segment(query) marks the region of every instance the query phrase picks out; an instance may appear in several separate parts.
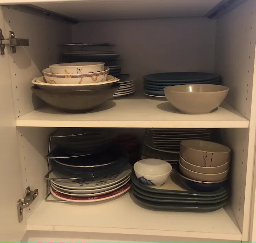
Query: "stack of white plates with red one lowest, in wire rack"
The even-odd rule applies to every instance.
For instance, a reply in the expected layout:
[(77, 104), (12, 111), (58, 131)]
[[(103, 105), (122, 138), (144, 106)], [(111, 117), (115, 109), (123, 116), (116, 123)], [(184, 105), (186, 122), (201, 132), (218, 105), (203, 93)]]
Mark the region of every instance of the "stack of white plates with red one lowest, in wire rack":
[(54, 180), (59, 178), (56, 172), (51, 172), (49, 177), (52, 178), (50, 190), (55, 197), (69, 202), (96, 202), (129, 190), (131, 166), (127, 163), (123, 169), (104, 178)]

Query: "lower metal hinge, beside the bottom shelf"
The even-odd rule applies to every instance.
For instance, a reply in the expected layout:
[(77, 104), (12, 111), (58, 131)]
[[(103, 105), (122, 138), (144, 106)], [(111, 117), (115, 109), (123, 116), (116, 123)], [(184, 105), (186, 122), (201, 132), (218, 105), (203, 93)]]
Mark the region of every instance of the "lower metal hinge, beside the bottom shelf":
[(35, 198), (38, 195), (38, 189), (31, 191), (30, 187), (28, 186), (25, 192), (26, 196), (24, 197), (24, 202), (22, 202), (21, 199), (19, 199), (19, 201), (17, 202), (19, 222), (23, 220), (23, 208), (29, 207), (34, 202)]

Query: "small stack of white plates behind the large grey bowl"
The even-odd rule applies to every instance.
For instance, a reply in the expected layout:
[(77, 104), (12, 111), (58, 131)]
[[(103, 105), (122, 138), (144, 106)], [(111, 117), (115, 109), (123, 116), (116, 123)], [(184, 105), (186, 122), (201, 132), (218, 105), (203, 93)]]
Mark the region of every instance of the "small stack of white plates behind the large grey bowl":
[(120, 79), (120, 81), (118, 81), (120, 87), (117, 90), (117, 92), (113, 95), (113, 98), (117, 98), (124, 95), (130, 95), (135, 92), (135, 80), (130, 79), (129, 75), (118, 76), (118, 78)]

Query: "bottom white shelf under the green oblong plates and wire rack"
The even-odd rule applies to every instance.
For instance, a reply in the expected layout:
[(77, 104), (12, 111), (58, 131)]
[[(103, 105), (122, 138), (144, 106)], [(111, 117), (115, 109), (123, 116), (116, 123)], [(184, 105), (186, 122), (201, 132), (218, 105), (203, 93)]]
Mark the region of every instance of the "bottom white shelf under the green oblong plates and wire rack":
[(154, 211), (135, 204), (129, 192), (96, 204), (42, 202), (27, 230), (242, 239), (228, 206), (208, 213)]

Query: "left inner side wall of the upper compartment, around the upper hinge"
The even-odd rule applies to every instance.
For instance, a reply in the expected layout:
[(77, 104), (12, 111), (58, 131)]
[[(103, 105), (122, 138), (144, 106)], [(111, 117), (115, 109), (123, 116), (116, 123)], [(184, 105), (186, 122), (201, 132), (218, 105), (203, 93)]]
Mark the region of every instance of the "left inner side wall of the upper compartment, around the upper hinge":
[(30, 40), (30, 46), (17, 47), (16, 53), (5, 48), (9, 54), (15, 118), (18, 118), (41, 105), (32, 96), (31, 81), (42, 76), (42, 70), (50, 64), (59, 62), (61, 43), (69, 41), (71, 26), (8, 8), (3, 8), (3, 15), (5, 37), (13, 31), (17, 38)]

